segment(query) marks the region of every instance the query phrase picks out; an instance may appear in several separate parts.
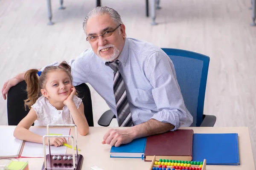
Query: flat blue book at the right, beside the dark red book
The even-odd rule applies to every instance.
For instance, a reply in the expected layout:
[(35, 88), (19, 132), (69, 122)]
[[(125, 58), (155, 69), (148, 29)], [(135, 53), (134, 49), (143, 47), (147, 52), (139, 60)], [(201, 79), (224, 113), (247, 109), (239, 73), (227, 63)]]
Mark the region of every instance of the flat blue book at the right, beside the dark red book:
[(195, 133), (193, 161), (209, 165), (239, 165), (237, 133)]

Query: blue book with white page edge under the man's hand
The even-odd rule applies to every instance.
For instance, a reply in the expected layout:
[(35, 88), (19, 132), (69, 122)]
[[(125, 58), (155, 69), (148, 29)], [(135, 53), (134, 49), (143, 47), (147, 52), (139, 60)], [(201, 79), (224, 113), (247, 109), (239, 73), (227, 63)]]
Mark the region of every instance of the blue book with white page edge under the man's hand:
[(114, 158), (141, 158), (144, 157), (147, 138), (134, 139), (131, 143), (121, 144), (119, 147), (112, 146), (110, 157)]

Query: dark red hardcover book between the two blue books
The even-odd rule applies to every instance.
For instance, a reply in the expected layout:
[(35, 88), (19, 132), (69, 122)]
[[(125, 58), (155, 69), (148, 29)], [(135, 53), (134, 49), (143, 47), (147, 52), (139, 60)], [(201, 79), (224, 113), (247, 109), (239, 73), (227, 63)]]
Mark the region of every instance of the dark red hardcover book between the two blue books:
[(156, 160), (192, 161), (193, 135), (192, 129), (181, 129), (148, 136), (144, 152), (145, 161), (152, 161), (154, 155)]

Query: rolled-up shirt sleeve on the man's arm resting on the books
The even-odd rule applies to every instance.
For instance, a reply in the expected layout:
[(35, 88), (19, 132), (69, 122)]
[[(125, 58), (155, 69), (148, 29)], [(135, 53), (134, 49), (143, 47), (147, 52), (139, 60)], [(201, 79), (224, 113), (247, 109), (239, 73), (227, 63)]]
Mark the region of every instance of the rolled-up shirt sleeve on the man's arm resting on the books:
[(148, 57), (145, 67), (145, 74), (153, 87), (152, 95), (159, 111), (151, 119), (170, 123), (175, 126), (173, 130), (183, 125), (191, 125), (193, 118), (184, 104), (175, 68), (169, 57), (158, 51)]

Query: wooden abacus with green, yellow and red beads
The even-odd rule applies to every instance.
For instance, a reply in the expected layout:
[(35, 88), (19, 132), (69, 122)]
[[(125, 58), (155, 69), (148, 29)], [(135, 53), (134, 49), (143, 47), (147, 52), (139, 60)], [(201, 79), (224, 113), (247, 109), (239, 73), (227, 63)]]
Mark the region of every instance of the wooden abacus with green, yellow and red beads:
[(149, 170), (206, 170), (206, 159), (203, 162), (177, 161), (177, 160), (156, 160), (153, 157)]

